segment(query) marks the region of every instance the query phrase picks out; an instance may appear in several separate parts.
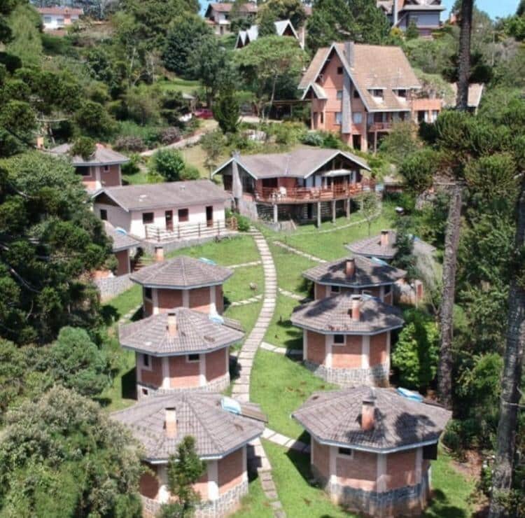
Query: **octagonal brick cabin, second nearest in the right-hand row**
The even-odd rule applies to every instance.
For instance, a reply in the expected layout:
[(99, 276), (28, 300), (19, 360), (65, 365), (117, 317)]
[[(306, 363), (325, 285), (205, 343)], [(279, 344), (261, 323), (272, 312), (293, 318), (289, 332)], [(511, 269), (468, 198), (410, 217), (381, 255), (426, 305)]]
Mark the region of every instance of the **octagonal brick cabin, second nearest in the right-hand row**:
[(400, 311), (367, 295), (344, 293), (302, 304), (293, 325), (303, 330), (304, 365), (342, 386), (388, 384), (391, 331)]

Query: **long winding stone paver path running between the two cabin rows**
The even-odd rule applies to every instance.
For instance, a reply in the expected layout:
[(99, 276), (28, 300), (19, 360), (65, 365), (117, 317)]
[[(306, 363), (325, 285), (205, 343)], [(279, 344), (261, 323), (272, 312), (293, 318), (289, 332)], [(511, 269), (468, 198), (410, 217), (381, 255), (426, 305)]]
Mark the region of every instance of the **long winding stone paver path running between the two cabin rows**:
[[(232, 397), (241, 402), (250, 400), (250, 376), (253, 358), (255, 358), (255, 353), (262, 343), (262, 338), (265, 336), (268, 325), (272, 320), (277, 295), (277, 274), (268, 244), (264, 236), (257, 230), (252, 229), (249, 233), (253, 235), (262, 260), (262, 269), (265, 274), (265, 293), (259, 318), (237, 356), (239, 377), (233, 382)], [(257, 470), (262, 491), (264, 491), (266, 498), (269, 500), (274, 517), (285, 518), (286, 512), (284, 512), (283, 505), (279, 501), (279, 495), (272, 477), (272, 465), (269, 463), (259, 439), (252, 441), (248, 449), (248, 468), (252, 471)]]

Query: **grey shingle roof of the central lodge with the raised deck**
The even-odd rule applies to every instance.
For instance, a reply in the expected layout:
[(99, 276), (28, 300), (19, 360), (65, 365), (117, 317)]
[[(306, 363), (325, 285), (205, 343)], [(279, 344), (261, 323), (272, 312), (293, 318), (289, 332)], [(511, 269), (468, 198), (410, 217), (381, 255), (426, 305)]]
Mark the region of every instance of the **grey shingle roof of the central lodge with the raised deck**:
[(347, 151), (334, 149), (299, 148), (290, 153), (268, 153), (265, 155), (239, 155), (230, 158), (218, 167), (214, 174), (236, 160), (237, 163), (255, 179), (290, 176), (290, 178), (307, 178), (326, 162), (337, 156), (342, 156), (353, 162), (360, 169), (370, 168), (367, 162)]

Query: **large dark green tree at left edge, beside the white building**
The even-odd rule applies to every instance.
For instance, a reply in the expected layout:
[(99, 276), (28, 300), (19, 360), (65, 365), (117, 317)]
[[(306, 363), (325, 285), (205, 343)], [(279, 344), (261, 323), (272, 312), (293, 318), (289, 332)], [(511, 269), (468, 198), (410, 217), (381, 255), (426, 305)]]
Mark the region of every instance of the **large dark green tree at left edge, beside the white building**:
[(85, 274), (111, 253), (73, 167), (43, 153), (0, 169), (0, 335), (49, 342), (64, 325), (94, 325), (99, 300)]

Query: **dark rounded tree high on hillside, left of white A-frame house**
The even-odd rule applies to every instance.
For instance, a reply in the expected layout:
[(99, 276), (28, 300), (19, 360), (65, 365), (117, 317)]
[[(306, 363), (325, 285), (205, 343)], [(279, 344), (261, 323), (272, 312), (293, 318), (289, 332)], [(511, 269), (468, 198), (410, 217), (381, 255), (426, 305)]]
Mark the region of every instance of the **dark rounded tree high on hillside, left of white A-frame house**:
[(194, 76), (190, 69), (196, 65), (190, 62), (192, 49), (195, 48), (195, 42), (199, 42), (204, 36), (211, 35), (211, 29), (202, 18), (177, 16), (167, 34), (162, 54), (166, 68), (179, 76), (193, 79)]

